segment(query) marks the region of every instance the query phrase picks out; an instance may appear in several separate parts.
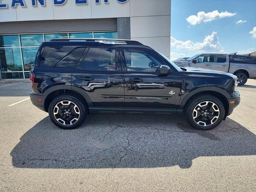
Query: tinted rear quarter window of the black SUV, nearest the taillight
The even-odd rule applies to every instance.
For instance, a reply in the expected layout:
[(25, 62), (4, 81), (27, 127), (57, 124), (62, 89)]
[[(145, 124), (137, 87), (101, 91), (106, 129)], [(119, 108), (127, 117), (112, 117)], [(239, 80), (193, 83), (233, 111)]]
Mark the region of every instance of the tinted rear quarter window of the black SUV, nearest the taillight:
[(85, 48), (44, 48), (40, 66), (74, 68), (84, 50)]

